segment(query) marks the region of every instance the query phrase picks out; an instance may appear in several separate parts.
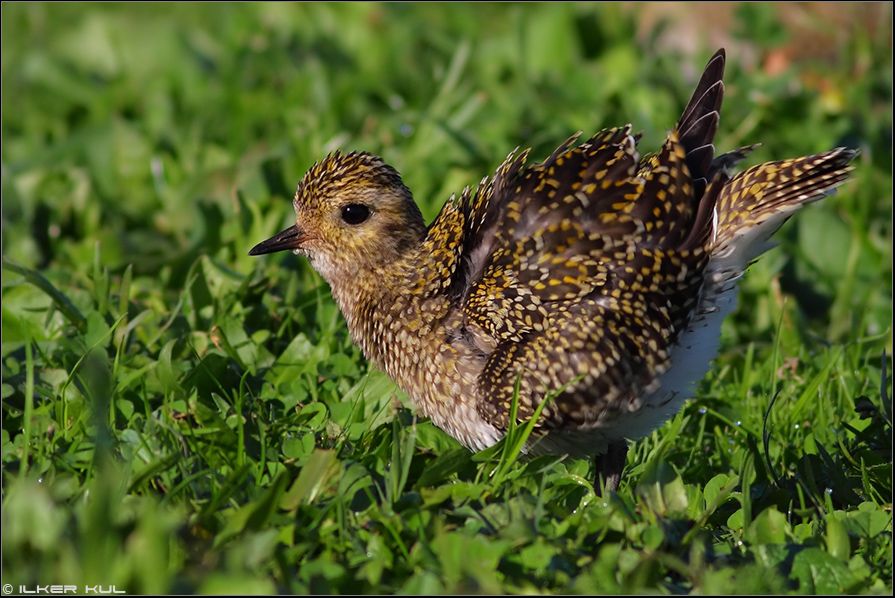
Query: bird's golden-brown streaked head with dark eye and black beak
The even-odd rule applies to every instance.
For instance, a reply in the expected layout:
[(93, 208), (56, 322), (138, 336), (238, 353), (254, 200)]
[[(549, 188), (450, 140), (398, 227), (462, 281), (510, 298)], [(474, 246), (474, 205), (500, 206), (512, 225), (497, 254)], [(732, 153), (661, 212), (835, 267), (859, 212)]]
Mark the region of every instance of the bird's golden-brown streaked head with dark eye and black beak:
[(401, 176), (368, 153), (335, 152), (314, 164), (292, 203), (295, 225), (249, 255), (285, 250), (306, 255), (331, 285), (387, 266), (426, 234)]

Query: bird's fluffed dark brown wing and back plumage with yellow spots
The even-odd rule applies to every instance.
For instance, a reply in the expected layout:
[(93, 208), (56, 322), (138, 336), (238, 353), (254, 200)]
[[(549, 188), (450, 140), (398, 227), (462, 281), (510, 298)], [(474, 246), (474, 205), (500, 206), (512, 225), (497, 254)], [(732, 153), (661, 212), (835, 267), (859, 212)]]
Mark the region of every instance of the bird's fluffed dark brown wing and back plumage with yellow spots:
[(518, 378), (521, 417), (571, 384), (544, 425), (593, 422), (664, 371), (707, 259), (681, 246), (695, 212), (685, 159), (672, 133), (639, 176), (629, 127), (609, 129), (491, 197), (499, 225), (460, 305), (494, 346), (480, 381), (487, 417), (506, 417)]

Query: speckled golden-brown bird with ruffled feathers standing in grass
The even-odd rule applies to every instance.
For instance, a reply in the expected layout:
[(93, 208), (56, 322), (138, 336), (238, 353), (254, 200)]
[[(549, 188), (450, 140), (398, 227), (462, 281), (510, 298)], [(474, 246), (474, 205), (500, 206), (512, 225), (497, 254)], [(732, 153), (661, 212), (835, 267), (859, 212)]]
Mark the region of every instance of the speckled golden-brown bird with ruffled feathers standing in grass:
[(756, 145), (715, 155), (725, 61), (657, 151), (630, 124), (542, 162), (517, 148), (429, 225), (394, 167), (332, 152), (295, 224), (249, 253), (305, 256), (366, 358), (468, 449), (537, 416), (526, 453), (593, 459), (595, 491), (616, 491), (629, 443), (709, 371), (746, 268), (854, 168), (837, 147), (735, 172)]

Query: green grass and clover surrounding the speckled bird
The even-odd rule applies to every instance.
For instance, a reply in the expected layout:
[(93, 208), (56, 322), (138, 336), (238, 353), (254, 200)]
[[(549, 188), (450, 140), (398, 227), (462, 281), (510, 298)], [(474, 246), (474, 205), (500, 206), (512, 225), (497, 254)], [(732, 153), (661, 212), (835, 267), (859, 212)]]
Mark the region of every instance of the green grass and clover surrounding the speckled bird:
[(655, 147), (714, 47), (611, 4), (4, 3), (2, 582), (890, 594), (891, 32), (771, 72), (775, 10), (734, 11), (717, 145), (857, 146), (854, 182), (780, 232), (601, 499), (586, 461), (415, 419), (308, 264), (247, 251), (336, 147), (427, 218), (517, 145)]

